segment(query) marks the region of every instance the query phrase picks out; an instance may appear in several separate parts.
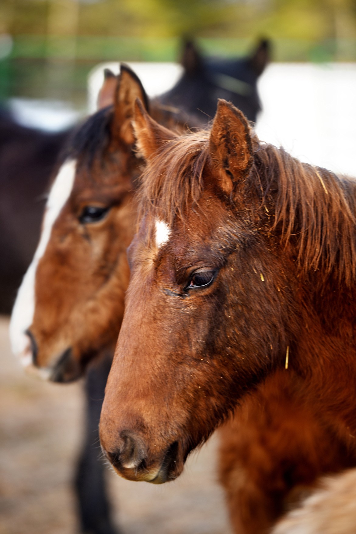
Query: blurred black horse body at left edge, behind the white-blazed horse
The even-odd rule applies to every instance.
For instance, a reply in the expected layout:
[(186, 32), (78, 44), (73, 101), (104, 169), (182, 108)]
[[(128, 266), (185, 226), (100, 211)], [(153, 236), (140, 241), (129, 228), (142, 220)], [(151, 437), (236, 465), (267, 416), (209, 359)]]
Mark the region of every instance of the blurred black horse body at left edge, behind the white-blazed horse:
[(45, 191), (68, 132), (47, 133), (0, 112), (0, 313), (10, 313), (39, 238)]

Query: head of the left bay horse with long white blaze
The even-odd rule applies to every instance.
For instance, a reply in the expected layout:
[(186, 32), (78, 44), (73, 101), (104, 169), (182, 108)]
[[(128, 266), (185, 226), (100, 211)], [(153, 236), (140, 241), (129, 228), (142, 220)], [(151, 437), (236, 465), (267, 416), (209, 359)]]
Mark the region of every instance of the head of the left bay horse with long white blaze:
[[(53, 180), (41, 239), (14, 305), (14, 352), (53, 381), (78, 378), (99, 351), (114, 353), (143, 163), (133, 150), (136, 98), (149, 108), (132, 70), (122, 66), (118, 78), (105, 73), (100, 109), (72, 136)], [(162, 119), (160, 109), (151, 112)]]

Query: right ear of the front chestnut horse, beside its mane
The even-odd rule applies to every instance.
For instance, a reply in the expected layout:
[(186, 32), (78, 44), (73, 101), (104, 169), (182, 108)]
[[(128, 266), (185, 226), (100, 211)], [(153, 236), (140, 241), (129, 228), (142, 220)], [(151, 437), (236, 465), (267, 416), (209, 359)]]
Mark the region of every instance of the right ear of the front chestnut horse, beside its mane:
[(245, 115), (219, 99), (209, 138), (209, 152), (221, 189), (230, 194), (234, 183), (248, 175), (253, 151)]

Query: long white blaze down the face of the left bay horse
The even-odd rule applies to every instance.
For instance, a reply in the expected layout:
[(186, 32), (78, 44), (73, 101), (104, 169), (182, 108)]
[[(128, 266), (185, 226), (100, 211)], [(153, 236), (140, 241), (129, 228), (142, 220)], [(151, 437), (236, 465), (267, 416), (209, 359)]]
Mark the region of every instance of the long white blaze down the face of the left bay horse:
[(43, 218), (41, 238), (34, 258), (23, 277), (10, 321), (10, 341), (13, 353), (20, 357), (24, 367), (32, 362), (30, 341), (25, 334), (31, 326), (35, 313), (35, 279), (39, 260), (44, 255), (51, 237), (52, 227), (67, 202), (76, 173), (76, 161), (67, 160), (56, 176), (48, 197)]

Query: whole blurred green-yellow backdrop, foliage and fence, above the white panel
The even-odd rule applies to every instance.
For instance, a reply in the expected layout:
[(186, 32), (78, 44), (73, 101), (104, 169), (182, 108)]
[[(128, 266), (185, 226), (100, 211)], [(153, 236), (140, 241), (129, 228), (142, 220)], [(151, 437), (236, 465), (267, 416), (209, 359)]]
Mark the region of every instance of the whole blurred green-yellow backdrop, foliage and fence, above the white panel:
[(277, 61), (356, 61), (356, 0), (0, 0), (1, 34), (0, 96), (63, 97), (69, 76), (72, 98), (97, 62), (177, 60), (183, 35), (221, 56), (264, 36)]

